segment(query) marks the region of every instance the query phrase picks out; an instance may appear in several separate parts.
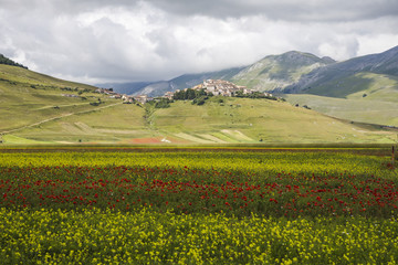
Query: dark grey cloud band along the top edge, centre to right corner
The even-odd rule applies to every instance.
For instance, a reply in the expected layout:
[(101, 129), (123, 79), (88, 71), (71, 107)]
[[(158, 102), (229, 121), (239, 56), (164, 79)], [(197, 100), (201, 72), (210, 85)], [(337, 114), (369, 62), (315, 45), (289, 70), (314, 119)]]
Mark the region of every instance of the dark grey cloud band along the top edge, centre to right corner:
[(180, 15), (213, 18), (263, 14), (286, 21), (352, 21), (397, 15), (396, 0), (151, 0), (159, 8)]

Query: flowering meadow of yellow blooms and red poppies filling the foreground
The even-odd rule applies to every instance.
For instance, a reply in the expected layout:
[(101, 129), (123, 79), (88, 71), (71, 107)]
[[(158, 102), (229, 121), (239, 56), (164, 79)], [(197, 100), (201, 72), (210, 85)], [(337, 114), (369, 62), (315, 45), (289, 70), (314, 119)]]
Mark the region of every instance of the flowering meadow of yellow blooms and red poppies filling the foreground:
[(387, 148), (3, 148), (4, 264), (395, 264)]

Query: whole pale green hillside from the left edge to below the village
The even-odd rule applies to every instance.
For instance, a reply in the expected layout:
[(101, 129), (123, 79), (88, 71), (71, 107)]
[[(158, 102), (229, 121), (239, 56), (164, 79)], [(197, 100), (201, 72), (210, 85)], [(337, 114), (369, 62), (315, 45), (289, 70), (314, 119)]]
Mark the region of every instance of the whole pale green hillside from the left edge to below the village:
[(379, 127), (350, 124), (269, 99), (213, 97), (203, 106), (187, 100), (157, 109), (122, 104), (93, 93), (94, 88), (0, 65), (1, 141), (303, 144), (390, 142), (396, 137)]

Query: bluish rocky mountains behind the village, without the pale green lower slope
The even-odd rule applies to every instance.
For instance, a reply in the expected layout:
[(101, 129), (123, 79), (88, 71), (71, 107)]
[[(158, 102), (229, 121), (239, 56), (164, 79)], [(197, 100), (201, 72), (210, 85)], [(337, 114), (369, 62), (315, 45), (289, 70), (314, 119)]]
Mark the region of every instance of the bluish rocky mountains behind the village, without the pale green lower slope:
[[(374, 74), (369, 77), (368, 74)], [(398, 76), (398, 46), (384, 53), (354, 57), (336, 62), (331, 57), (318, 57), (297, 51), (269, 55), (243, 67), (217, 72), (184, 74), (170, 81), (136, 84), (106, 84), (126, 94), (161, 96), (167, 91), (184, 89), (200, 84), (203, 80), (227, 80), (256, 91), (284, 94), (314, 94), (345, 97), (353, 91), (353, 83), (373, 83), (377, 75), (387, 76), (395, 83)], [(391, 86), (395, 86), (392, 84)], [(121, 87), (121, 88), (119, 88)]]

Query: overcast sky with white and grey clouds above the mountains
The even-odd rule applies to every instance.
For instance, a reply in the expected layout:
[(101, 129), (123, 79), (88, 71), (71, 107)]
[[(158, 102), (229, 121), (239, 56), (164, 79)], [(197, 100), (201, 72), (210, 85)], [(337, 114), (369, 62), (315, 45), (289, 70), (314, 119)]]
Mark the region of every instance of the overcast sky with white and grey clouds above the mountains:
[(0, 0), (0, 53), (85, 83), (170, 80), (291, 50), (398, 45), (397, 0)]

